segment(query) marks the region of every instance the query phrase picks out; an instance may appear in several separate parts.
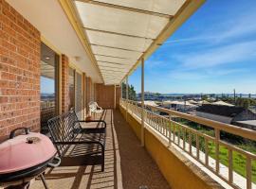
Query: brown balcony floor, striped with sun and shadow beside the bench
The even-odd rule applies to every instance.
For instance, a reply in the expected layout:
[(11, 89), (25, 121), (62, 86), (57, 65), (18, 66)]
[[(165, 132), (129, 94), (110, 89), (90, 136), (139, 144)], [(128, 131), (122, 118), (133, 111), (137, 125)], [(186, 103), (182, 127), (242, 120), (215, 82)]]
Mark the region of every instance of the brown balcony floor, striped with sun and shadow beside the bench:
[[(101, 116), (107, 123), (105, 171), (101, 165), (59, 166), (46, 170), (46, 182), (52, 189), (149, 189), (170, 188), (157, 165), (140, 143), (119, 111), (105, 110)], [(41, 180), (32, 189), (44, 188)]]

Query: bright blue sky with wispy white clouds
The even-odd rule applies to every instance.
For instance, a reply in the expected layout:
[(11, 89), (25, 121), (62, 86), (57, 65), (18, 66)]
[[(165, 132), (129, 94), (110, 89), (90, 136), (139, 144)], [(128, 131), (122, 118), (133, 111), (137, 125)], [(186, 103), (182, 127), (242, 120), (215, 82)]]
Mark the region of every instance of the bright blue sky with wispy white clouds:
[(145, 91), (256, 94), (255, 73), (256, 1), (208, 0), (145, 61)]

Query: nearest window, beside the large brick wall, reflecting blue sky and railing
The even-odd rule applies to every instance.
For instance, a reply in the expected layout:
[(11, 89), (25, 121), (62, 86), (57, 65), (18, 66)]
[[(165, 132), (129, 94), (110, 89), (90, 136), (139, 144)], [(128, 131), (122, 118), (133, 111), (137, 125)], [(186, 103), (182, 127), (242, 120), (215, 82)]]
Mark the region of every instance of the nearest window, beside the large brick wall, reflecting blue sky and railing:
[(41, 43), (41, 131), (47, 132), (47, 121), (58, 112), (59, 56)]

